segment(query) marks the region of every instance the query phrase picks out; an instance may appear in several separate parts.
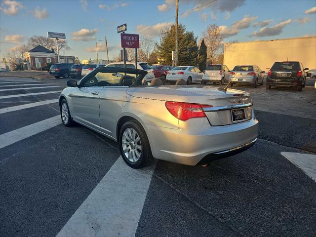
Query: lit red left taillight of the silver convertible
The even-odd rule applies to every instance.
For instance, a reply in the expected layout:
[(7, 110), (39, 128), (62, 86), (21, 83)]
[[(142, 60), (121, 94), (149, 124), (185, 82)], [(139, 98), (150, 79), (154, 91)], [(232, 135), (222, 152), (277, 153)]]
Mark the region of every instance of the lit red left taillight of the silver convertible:
[(203, 108), (213, 107), (211, 105), (200, 105), (184, 102), (167, 101), (165, 103), (167, 110), (176, 118), (186, 121), (190, 118), (206, 117)]

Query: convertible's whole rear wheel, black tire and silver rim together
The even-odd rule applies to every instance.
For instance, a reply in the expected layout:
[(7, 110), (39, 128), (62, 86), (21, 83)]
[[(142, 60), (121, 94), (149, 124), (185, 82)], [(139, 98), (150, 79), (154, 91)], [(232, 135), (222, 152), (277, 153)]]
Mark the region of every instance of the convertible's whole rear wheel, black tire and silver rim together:
[(124, 162), (134, 169), (148, 166), (154, 160), (146, 132), (136, 120), (127, 121), (121, 126), (118, 146)]

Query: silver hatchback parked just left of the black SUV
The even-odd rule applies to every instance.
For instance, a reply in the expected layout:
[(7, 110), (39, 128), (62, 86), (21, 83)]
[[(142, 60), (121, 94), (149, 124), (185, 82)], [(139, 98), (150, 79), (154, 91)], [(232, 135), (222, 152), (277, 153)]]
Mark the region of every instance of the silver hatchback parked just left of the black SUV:
[(235, 66), (230, 72), (231, 86), (234, 84), (250, 84), (256, 88), (258, 84), (263, 85), (264, 73), (265, 71), (261, 71), (257, 65)]

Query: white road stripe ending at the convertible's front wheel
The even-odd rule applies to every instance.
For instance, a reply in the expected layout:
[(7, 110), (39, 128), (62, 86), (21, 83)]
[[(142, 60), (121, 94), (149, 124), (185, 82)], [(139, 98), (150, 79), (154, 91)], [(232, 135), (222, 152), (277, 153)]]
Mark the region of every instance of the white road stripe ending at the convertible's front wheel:
[(55, 117), (47, 118), (45, 120), (27, 125), (25, 127), (3, 133), (0, 135), (0, 148), (9, 146), (13, 143), (45, 131), (49, 128), (55, 127), (59, 124), (61, 124), (61, 118), (60, 115), (57, 115)]

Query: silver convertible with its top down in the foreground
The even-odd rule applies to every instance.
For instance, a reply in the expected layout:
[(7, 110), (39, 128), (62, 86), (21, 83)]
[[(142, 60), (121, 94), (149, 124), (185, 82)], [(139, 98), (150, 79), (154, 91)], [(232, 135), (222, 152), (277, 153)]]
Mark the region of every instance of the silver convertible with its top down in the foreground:
[[(209, 86), (142, 85), (146, 71), (97, 68), (59, 97), (62, 122), (80, 123), (118, 142), (124, 161), (144, 167), (153, 158), (197, 165), (231, 156), (257, 139), (250, 95)], [(181, 84), (181, 83), (180, 83)]]

